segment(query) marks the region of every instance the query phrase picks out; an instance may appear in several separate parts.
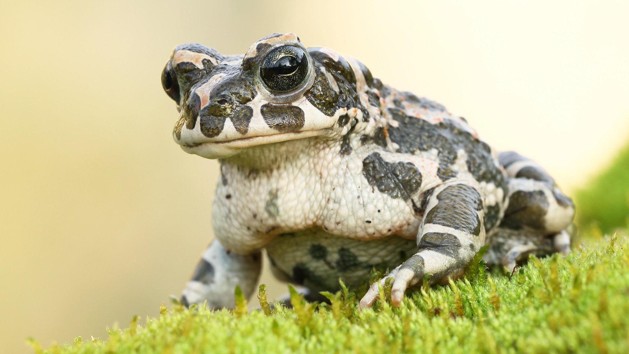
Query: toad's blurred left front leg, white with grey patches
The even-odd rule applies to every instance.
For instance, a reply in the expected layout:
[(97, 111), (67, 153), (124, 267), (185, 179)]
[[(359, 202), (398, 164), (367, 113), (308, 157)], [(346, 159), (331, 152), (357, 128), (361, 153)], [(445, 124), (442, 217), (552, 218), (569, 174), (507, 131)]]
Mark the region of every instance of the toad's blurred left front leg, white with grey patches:
[(214, 239), (201, 256), (192, 279), (181, 297), (182, 304), (203, 304), (207, 300), (211, 309), (236, 305), (234, 289), (240, 286), (247, 299), (253, 294), (260, 276), (260, 251), (252, 254), (235, 254), (223, 248)]

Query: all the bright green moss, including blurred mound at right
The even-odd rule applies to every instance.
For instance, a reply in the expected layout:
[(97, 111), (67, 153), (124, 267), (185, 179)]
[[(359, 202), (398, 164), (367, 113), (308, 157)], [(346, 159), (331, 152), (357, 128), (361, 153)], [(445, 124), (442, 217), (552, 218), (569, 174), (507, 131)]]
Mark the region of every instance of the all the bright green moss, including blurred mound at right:
[(36, 353), (629, 353), (629, 237), (602, 236), (627, 226), (629, 149), (576, 202), (584, 227), (569, 256), (531, 258), (513, 274), (474, 263), (399, 308), (385, 300), (359, 312), (360, 294), (344, 289), (328, 294), (331, 305), (293, 293), (294, 309), (274, 310), (263, 290), (261, 310), (247, 312), (242, 296), (234, 311), (174, 301), (157, 318), (108, 329), (106, 340), (30, 343)]

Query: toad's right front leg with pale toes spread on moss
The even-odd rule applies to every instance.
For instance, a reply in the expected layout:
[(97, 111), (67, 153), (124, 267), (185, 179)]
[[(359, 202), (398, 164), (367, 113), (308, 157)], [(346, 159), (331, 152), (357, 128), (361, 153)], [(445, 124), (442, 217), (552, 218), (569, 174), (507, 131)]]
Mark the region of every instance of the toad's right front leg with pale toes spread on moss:
[(485, 240), (483, 202), (479, 191), (466, 184), (445, 185), (431, 195), (423, 226), (418, 232), (418, 252), (402, 265), (374, 283), (360, 300), (369, 307), (379, 297), (378, 284), (393, 279), (391, 302), (395, 306), (410, 286), (430, 275), (437, 283), (448, 277), (459, 277)]

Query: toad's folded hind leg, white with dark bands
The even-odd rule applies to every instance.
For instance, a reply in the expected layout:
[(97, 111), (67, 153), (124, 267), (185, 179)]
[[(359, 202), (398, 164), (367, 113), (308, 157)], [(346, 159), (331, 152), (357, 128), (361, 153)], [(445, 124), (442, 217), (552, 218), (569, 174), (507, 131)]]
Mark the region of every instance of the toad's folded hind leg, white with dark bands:
[(567, 254), (574, 216), (570, 198), (532, 160), (516, 152), (502, 152), (499, 160), (509, 176), (509, 193), (500, 226), (487, 235), (491, 246), (484, 260), (513, 270), (528, 254)]

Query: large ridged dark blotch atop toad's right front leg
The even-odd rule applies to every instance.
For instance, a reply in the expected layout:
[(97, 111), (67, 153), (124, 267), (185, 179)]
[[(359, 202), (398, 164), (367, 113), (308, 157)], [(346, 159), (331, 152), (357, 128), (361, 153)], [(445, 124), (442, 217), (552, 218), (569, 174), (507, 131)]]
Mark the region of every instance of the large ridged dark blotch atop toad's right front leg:
[(437, 195), (439, 202), (426, 215), (424, 224), (437, 224), (478, 236), (482, 210), (481, 195), (468, 185), (448, 186)]

